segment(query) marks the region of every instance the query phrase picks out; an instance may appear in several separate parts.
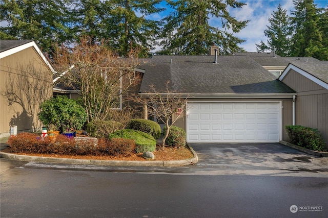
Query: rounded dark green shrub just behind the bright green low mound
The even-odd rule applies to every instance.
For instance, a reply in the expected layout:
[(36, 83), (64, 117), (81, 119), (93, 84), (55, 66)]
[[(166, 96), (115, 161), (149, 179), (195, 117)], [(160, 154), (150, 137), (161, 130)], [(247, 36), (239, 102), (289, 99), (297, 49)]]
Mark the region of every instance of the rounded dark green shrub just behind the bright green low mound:
[(131, 119), (126, 129), (139, 130), (152, 135), (155, 139), (160, 137), (160, 126), (149, 119)]

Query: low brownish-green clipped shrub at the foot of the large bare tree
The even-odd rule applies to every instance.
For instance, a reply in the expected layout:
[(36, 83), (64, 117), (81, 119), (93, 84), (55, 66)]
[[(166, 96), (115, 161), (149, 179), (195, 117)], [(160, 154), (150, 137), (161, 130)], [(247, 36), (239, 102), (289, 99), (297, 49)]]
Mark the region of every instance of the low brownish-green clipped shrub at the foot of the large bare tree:
[(93, 120), (87, 124), (87, 132), (96, 138), (108, 138), (109, 134), (123, 128), (121, 123), (112, 120)]

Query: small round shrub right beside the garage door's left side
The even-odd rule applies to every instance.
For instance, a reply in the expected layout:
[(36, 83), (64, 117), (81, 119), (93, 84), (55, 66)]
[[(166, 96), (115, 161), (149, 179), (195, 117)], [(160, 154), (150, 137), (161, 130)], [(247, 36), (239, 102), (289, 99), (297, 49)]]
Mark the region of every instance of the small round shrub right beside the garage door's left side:
[[(164, 127), (163, 134), (166, 134), (167, 128)], [(186, 146), (186, 132), (177, 126), (171, 126), (170, 132), (165, 140), (165, 143), (168, 146), (172, 147), (185, 147)]]

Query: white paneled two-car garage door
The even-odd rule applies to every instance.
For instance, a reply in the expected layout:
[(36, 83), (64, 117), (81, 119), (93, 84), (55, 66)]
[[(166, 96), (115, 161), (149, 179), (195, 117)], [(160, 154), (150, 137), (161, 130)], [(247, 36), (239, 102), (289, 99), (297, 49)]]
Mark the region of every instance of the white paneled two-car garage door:
[(190, 102), (187, 142), (278, 142), (279, 102)]

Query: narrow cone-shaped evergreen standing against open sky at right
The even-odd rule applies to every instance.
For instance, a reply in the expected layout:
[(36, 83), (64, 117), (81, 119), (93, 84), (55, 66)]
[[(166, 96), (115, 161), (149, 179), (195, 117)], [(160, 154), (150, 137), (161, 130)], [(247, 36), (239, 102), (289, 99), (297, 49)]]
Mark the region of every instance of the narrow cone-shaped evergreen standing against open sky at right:
[(290, 45), (290, 26), (287, 10), (282, 9), (279, 4), (277, 11), (273, 11), (271, 18), (269, 18), (270, 26), (264, 30), (264, 35), (268, 37), (268, 43), (265, 44), (261, 41), (260, 44), (256, 44), (258, 52), (264, 52), (265, 50), (276, 49), (276, 53), (282, 57), (288, 55)]

